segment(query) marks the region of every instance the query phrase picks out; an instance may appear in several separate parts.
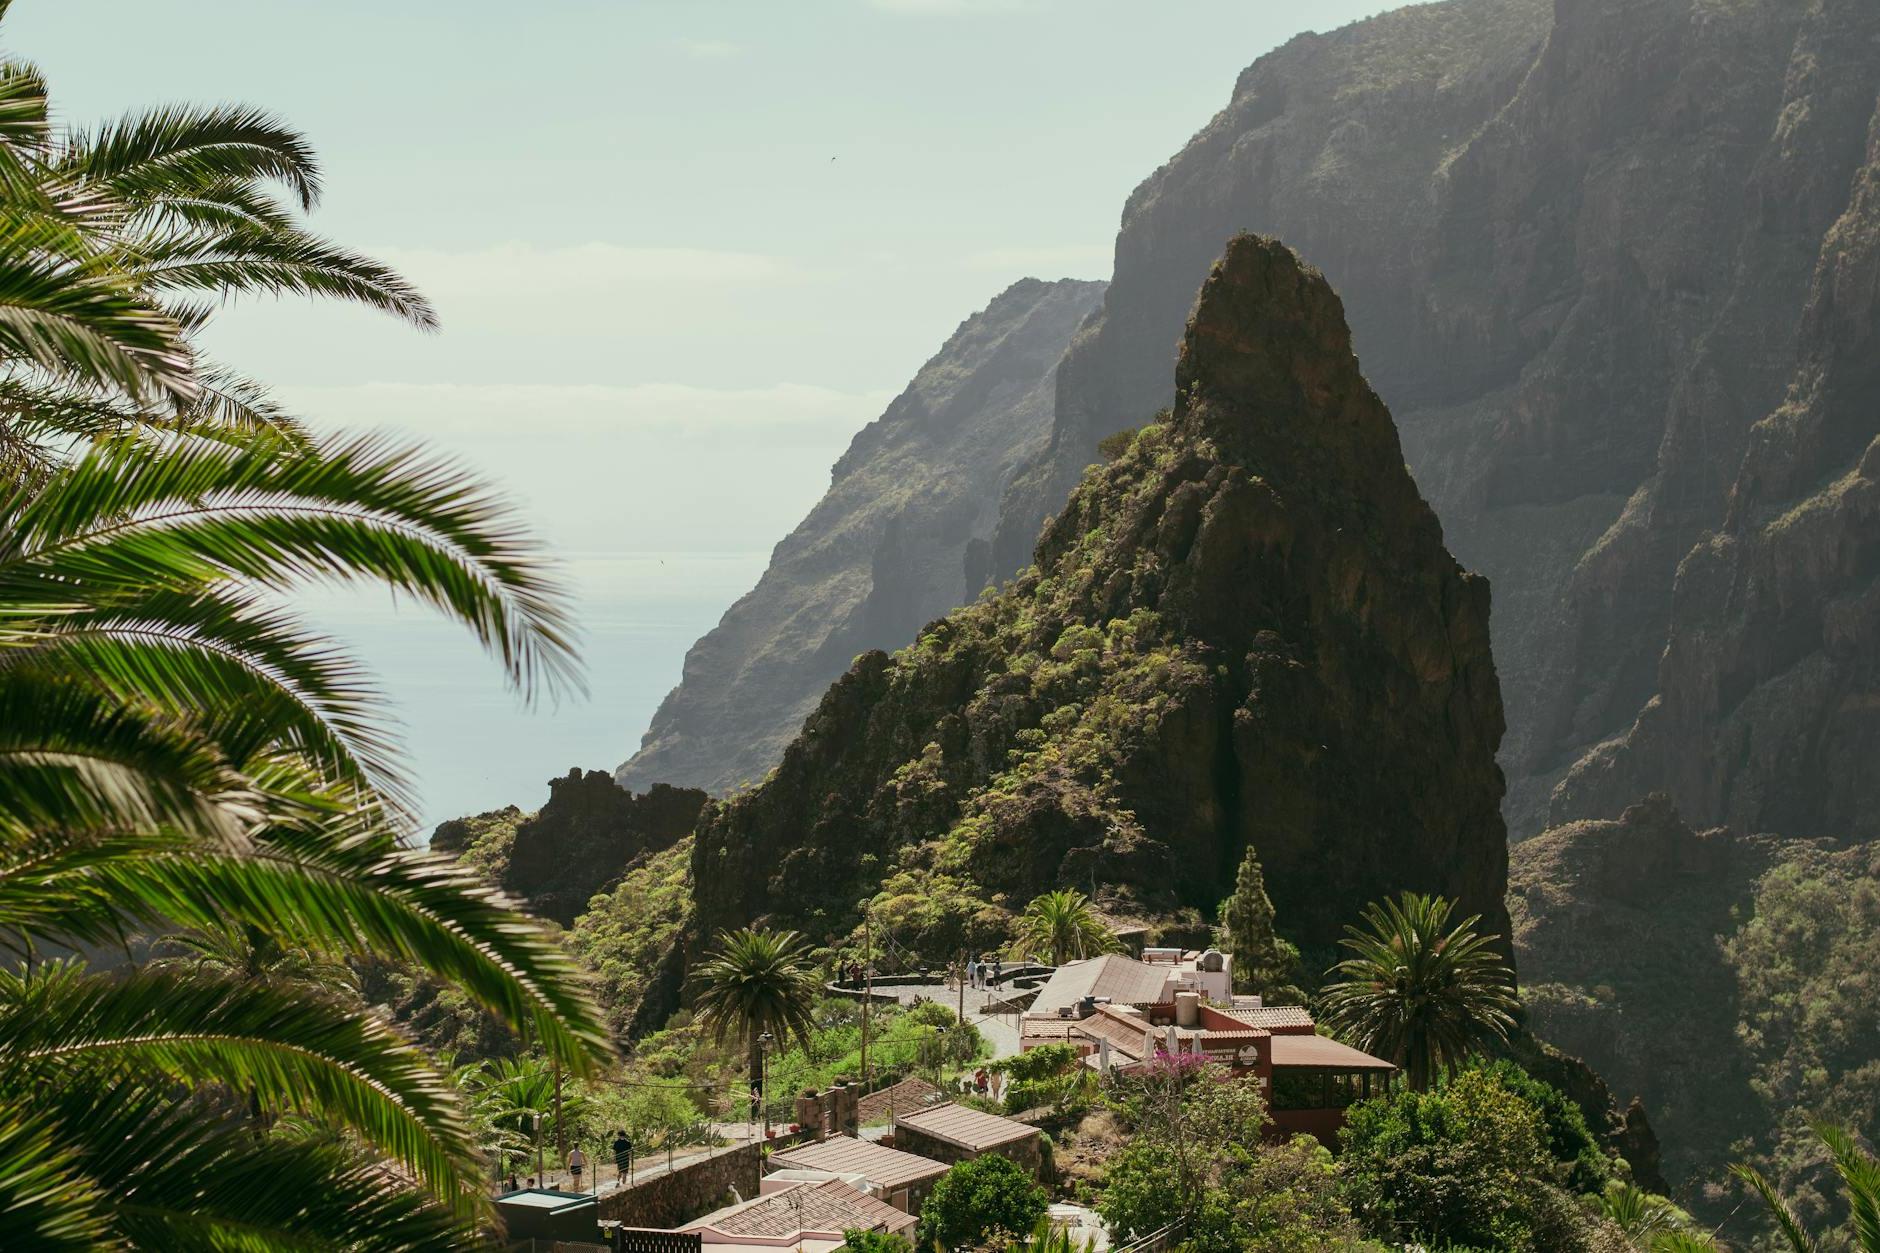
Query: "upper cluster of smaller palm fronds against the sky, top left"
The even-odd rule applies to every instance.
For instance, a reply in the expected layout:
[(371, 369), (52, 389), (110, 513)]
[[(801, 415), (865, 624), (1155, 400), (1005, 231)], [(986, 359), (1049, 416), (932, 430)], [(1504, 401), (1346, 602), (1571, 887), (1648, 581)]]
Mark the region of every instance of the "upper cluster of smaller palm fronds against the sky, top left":
[(175, 105), (60, 128), (41, 75), (0, 56), (0, 476), (43, 472), (70, 436), (143, 427), (303, 438), (190, 344), (229, 297), (320, 295), (436, 325), (408, 282), (308, 233), (276, 190), (310, 211), (320, 169), (265, 113)]

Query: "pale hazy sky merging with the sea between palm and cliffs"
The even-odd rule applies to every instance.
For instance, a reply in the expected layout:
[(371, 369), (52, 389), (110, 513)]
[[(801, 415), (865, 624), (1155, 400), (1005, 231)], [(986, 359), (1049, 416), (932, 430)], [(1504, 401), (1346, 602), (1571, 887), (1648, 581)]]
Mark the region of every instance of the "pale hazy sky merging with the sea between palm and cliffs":
[(425, 337), (241, 305), (211, 348), (310, 416), (500, 474), (570, 557), (592, 698), (523, 715), (412, 615), (321, 606), (399, 698), (432, 818), (639, 741), (874, 418), (1010, 282), (1109, 275), (1130, 188), (1260, 53), (1359, 0), (17, 0), (90, 120), (241, 100), (308, 132), (314, 224)]

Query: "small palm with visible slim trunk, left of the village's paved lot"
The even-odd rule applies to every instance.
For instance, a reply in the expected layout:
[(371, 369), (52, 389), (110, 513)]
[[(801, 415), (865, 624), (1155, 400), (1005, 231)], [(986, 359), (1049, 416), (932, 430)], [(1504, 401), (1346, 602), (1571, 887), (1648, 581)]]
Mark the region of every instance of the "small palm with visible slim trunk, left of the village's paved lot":
[(816, 1025), (816, 973), (795, 931), (741, 928), (720, 931), (699, 967), (697, 1012), (713, 1040), (741, 1040), (750, 1057), (750, 1087), (763, 1086), (763, 1037), (795, 1037), (810, 1048)]

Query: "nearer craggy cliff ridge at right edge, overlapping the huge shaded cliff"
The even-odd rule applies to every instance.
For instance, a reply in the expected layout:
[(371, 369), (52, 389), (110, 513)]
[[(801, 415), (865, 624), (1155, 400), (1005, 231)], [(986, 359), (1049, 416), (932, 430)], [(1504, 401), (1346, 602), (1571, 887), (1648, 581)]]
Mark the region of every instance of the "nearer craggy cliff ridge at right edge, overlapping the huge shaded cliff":
[(1871, 79), (1867, 162), (1820, 248), (1788, 395), (1750, 429), (1724, 525), (1677, 572), (1656, 694), (1559, 786), (1560, 820), (1664, 788), (1694, 822), (1880, 837), (1874, 96)]

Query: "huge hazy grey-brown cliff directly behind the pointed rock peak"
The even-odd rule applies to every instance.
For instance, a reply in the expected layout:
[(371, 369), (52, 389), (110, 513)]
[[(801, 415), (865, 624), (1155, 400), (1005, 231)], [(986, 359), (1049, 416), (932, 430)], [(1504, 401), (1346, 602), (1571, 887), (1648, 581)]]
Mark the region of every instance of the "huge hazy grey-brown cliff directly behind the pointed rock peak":
[(1794, 374), (1876, 81), (1871, 0), (1446, 0), (1293, 40), (1130, 198), (993, 574), (1102, 436), (1169, 403), (1216, 241), (1277, 233), (1346, 297), (1451, 547), (1495, 581), (1510, 822), (1538, 832), (1653, 692), (1677, 563)]

